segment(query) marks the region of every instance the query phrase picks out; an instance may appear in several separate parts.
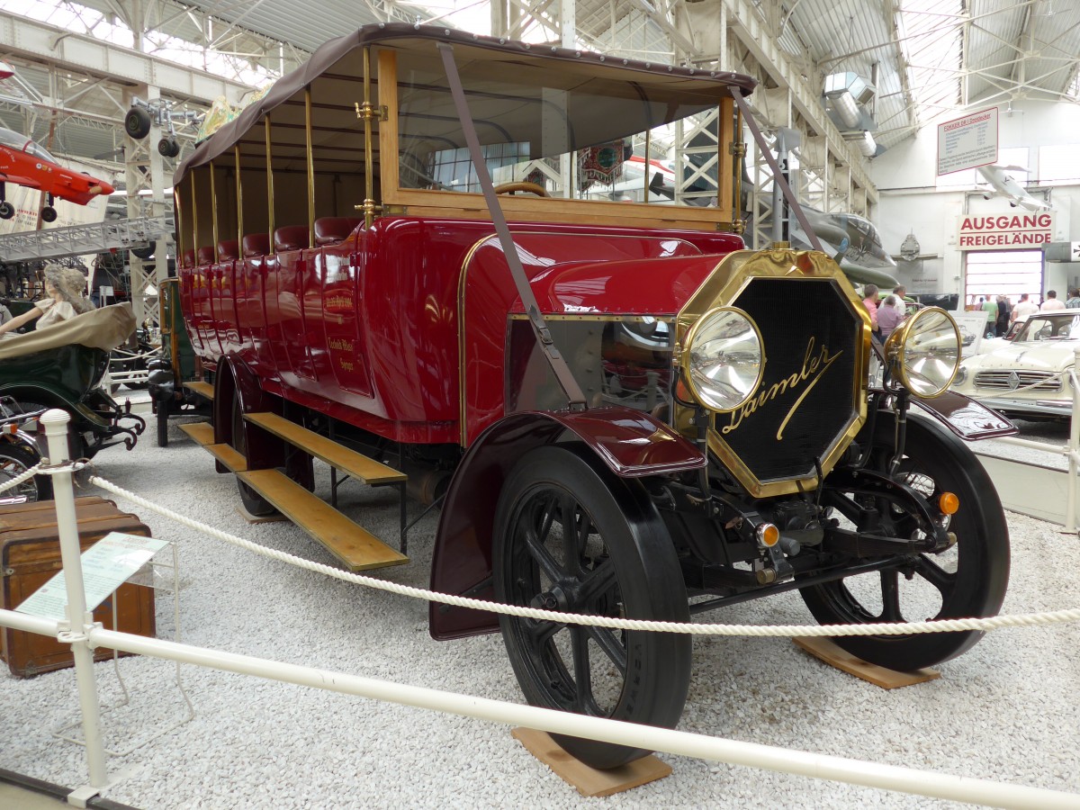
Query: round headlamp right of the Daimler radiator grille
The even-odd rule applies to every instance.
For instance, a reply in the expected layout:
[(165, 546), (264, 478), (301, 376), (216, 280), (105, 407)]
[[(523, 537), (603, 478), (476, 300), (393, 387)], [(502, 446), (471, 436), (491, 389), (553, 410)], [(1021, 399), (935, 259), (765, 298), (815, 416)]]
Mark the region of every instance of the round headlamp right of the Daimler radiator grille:
[(889, 336), (886, 356), (904, 388), (918, 396), (940, 396), (960, 367), (960, 330), (940, 307), (919, 310)]

